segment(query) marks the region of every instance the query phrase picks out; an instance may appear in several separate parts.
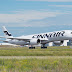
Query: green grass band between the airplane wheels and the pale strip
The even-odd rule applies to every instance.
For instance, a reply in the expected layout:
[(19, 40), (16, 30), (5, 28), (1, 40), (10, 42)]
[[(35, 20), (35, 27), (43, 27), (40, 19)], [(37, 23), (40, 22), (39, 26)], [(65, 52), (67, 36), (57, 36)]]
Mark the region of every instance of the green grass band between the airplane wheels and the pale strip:
[(48, 47), (47, 49), (29, 49), (27, 47), (0, 47), (0, 56), (72, 56), (72, 48)]

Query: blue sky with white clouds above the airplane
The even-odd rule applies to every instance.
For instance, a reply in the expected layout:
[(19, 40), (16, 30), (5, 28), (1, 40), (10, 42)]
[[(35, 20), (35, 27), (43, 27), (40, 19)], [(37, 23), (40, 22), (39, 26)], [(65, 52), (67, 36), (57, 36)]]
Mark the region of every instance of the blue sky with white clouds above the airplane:
[(0, 35), (72, 30), (72, 0), (0, 0)]

